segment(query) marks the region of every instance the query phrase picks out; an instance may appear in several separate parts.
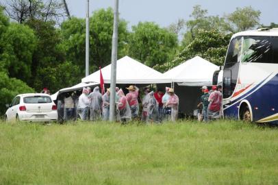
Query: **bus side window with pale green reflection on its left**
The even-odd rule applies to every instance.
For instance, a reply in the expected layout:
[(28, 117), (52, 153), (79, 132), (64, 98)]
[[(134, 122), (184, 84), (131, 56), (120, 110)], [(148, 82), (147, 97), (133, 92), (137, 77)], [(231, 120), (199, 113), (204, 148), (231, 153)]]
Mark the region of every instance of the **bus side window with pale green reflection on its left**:
[(271, 43), (268, 36), (244, 36), (241, 62), (269, 63)]

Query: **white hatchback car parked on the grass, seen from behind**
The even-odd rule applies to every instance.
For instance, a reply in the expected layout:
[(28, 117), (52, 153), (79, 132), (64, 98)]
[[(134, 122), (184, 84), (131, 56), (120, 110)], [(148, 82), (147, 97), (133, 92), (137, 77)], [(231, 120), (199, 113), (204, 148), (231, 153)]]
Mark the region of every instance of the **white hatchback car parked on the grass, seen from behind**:
[(17, 95), (5, 112), (7, 121), (57, 121), (57, 106), (47, 94)]

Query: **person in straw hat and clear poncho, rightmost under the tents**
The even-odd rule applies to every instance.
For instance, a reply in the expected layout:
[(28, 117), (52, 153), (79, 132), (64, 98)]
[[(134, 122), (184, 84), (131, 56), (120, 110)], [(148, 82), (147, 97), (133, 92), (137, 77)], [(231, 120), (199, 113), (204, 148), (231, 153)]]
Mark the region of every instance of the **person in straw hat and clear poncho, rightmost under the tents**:
[(179, 97), (174, 93), (173, 88), (169, 88), (168, 93), (170, 97), (166, 103), (166, 107), (171, 108), (171, 121), (176, 121), (179, 113)]

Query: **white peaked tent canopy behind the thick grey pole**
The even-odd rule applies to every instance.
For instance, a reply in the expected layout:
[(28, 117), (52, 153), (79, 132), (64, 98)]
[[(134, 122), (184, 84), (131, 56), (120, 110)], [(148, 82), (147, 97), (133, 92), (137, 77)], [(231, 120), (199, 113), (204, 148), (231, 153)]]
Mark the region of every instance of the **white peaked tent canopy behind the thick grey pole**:
[[(116, 63), (116, 83), (117, 84), (162, 84), (170, 83), (168, 80), (163, 80), (162, 73), (151, 69), (149, 66), (142, 64), (129, 56), (119, 59)], [(101, 69), (104, 83), (110, 84), (111, 64)], [(96, 82), (99, 83), (100, 73), (96, 71), (88, 77), (84, 77), (81, 82)]]

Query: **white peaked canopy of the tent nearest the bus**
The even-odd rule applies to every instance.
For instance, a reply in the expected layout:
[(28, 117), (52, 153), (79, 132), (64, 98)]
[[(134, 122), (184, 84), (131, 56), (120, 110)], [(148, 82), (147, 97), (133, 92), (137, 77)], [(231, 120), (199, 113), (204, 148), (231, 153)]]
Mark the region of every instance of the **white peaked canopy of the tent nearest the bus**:
[(164, 73), (164, 79), (179, 86), (212, 86), (214, 72), (219, 69), (211, 62), (196, 56)]

